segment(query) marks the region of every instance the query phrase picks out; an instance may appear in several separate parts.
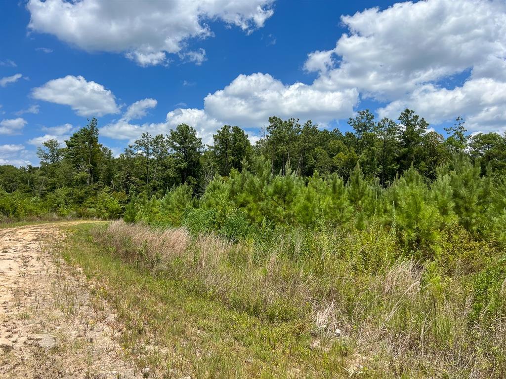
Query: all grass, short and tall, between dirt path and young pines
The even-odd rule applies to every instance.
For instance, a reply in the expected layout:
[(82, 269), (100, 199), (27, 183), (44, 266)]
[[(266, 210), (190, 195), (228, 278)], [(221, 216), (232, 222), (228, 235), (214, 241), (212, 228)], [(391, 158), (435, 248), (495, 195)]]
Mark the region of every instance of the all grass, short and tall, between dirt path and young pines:
[[(420, 265), (391, 235), (230, 244), (122, 221), (71, 226), (122, 346), (159, 377), (504, 377), (503, 252), (458, 230)], [(479, 253), (478, 253), (479, 252)]]

